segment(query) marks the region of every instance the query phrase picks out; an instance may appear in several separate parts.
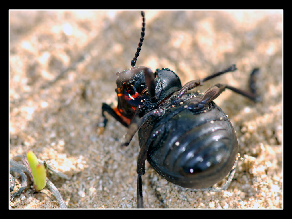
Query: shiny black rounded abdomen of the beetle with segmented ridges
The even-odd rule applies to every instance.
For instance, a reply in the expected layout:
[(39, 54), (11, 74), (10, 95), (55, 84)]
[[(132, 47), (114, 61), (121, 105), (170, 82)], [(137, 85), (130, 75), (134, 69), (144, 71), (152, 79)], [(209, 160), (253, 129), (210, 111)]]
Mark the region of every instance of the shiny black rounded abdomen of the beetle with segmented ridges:
[(140, 140), (143, 132), (144, 139), (149, 137), (146, 133), (156, 135), (147, 155), (151, 166), (169, 182), (186, 188), (218, 183), (230, 172), (238, 152), (234, 129), (215, 103), (199, 112), (186, 109), (200, 99), (191, 98), (168, 109), (151, 131), (148, 124), (148, 131), (142, 127), (139, 132)]

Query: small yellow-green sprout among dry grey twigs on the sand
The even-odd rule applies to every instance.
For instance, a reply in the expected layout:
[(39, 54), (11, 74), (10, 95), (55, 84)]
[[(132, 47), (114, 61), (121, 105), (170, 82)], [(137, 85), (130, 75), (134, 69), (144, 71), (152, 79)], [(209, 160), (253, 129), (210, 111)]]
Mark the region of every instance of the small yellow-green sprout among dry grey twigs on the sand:
[(38, 191), (42, 190), (47, 183), (47, 171), (44, 165), (40, 164), (36, 155), (32, 151), (26, 154), (29, 167), (32, 171), (32, 178), (34, 180), (34, 188)]

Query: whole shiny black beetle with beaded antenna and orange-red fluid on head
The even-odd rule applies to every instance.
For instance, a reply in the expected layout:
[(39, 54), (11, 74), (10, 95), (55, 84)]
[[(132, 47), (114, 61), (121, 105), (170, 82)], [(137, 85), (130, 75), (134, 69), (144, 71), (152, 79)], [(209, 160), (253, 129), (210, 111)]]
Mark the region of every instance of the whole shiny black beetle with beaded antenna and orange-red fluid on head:
[[(204, 79), (190, 81), (184, 86), (175, 72), (168, 68), (152, 72), (147, 67), (135, 67), (145, 35), (145, 14), (142, 32), (132, 68), (118, 72), (118, 106), (112, 109), (102, 104), (104, 112), (128, 127), (122, 146), (127, 146), (139, 131), (140, 152), (137, 163), (137, 207), (143, 208), (142, 175), (145, 161), (169, 182), (191, 189), (226, 190), (234, 173), (238, 157), (237, 137), (226, 114), (213, 100), (225, 88), (246, 96), (254, 102), (261, 100), (255, 89), (254, 69), (250, 77), (251, 92), (225, 84), (211, 86), (204, 95), (186, 93), (226, 72), (235, 65)], [(223, 187), (207, 188), (228, 174)]]

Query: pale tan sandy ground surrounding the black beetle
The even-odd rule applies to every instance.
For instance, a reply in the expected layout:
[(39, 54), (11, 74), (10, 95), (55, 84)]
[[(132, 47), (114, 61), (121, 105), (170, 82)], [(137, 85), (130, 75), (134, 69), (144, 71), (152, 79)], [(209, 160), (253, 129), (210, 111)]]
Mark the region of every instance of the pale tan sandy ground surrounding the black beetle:
[[(168, 183), (146, 161), (145, 207), (283, 208), (283, 11), (145, 13), (137, 66), (173, 69), (185, 84), (237, 65), (236, 72), (205, 83), (202, 92), (215, 83), (247, 89), (249, 73), (259, 67), (263, 97), (255, 104), (225, 91), (215, 100), (239, 142), (227, 191), (190, 192)], [(10, 11), (9, 157), (33, 150), (72, 177), (48, 174), (68, 208), (136, 208), (138, 135), (121, 150), (126, 128), (111, 117), (104, 132), (97, 124), (102, 102), (117, 104), (115, 73), (131, 67), (141, 20), (139, 11)], [(29, 196), (31, 191), (28, 186), (10, 208), (59, 208), (54, 197)]]

